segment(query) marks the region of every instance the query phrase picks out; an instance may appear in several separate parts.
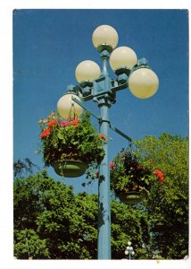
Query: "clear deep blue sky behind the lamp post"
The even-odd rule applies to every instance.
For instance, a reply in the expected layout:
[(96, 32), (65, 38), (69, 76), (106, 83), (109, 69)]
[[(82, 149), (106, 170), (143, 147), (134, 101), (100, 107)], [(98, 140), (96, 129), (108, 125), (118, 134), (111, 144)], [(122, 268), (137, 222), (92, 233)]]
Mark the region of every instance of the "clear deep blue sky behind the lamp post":
[[(154, 97), (139, 100), (129, 90), (117, 93), (110, 109), (113, 126), (133, 140), (162, 133), (188, 135), (188, 13), (187, 10), (15, 10), (13, 12), (13, 150), (14, 161), (29, 158), (44, 163), (37, 121), (56, 110), (66, 86), (77, 84), (75, 68), (83, 60), (102, 65), (92, 33), (102, 24), (118, 31), (120, 46), (145, 57), (158, 75)], [(115, 74), (110, 72), (115, 78)], [(96, 115), (93, 101), (86, 106)], [(97, 123), (93, 119), (95, 126)], [(127, 147), (127, 141), (110, 132), (110, 159)], [(49, 175), (60, 179), (52, 168)], [(84, 188), (84, 177), (66, 179), (75, 192), (97, 191), (96, 183)]]

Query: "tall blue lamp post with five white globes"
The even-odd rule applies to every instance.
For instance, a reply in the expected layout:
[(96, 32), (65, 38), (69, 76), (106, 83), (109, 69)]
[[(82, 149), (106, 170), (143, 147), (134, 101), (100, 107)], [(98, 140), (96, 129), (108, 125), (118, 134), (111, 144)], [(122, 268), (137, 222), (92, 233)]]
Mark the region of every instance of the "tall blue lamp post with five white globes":
[[(117, 31), (109, 25), (97, 27), (92, 36), (93, 44), (103, 61), (102, 71), (95, 62), (81, 62), (75, 71), (79, 84), (70, 85), (67, 92), (57, 103), (58, 113), (62, 117), (80, 115), (86, 108), (84, 101), (94, 100), (100, 108), (100, 132), (106, 137), (109, 128), (129, 139), (117, 128), (113, 128), (109, 118), (109, 108), (115, 103), (116, 92), (127, 89), (137, 98), (145, 99), (154, 95), (158, 89), (158, 77), (147, 65), (145, 58), (137, 59), (136, 53), (128, 47), (116, 48)], [(107, 65), (117, 75), (112, 79), (108, 74)], [(98, 183), (98, 259), (111, 259), (111, 200), (110, 200), (110, 169), (108, 160), (108, 144), (104, 145), (104, 160), (100, 165)]]

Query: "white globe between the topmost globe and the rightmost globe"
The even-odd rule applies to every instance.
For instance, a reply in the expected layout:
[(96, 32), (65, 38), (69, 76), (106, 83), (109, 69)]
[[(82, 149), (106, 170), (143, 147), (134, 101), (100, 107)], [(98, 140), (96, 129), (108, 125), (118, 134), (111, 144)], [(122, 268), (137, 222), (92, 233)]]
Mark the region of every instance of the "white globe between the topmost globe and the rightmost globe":
[(134, 65), (137, 65), (137, 55), (129, 47), (115, 48), (110, 56), (110, 65), (113, 71), (120, 68), (131, 69)]

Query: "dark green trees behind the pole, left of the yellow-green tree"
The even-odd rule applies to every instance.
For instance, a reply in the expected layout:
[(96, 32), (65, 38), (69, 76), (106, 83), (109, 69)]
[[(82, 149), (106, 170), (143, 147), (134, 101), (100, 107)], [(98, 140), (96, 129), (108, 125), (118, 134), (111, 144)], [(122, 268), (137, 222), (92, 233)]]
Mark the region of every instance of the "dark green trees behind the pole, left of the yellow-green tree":
[[(97, 195), (74, 195), (46, 171), (14, 181), (14, 255), (18, 258), (96, 259)], [(130, 239), (148, 240), (146, 212), (112, 201), (112, 258)]]

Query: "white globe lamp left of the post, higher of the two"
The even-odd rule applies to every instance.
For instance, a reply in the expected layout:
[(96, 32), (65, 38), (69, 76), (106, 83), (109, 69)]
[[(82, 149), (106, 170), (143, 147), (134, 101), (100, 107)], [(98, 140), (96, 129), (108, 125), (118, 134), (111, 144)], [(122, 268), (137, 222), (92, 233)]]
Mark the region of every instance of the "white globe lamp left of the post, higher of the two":
[(95, 62), (87, 60), (76, 67), (75, 76), (77, 82), (91, 82), (100, 77), (101, 70)]

